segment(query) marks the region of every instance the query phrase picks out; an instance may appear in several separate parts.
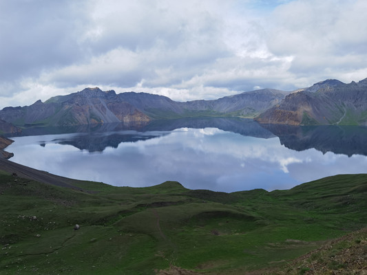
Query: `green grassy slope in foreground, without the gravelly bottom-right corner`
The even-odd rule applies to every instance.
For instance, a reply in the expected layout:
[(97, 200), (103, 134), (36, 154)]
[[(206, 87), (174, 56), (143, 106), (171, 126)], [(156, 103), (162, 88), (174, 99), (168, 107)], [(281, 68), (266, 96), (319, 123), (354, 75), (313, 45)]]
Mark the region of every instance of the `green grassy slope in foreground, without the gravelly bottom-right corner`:
[(367, 224), (367, 175), (230, 194), (172, 181), (147, 188), (74, 186), (78, 190), (0, 172), (0, 274), (286, 270), (297, 256)]

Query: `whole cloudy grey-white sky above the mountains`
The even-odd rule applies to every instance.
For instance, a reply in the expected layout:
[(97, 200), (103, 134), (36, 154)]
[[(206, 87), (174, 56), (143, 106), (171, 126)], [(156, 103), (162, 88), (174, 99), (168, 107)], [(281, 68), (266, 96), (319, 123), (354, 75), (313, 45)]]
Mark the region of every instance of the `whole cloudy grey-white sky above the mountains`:
[(85, 87), (215, 99), (367, 78), (366, 0), (0, 0), (0, 108)]

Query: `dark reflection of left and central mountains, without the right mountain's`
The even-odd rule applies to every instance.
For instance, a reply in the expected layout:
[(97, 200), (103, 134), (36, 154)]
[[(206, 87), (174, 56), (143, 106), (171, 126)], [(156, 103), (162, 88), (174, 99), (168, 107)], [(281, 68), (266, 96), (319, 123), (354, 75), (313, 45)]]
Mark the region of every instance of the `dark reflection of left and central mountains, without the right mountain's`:
[[(180, 128), (216, 128), (241, 135), (269, 138), (273, 133), (260, 124), (246, 118), (185, 118), (177, 120), (154, 120), (138, 124), (95, 124), (68, 127), (40, 127), (23, 130), (21, 135), (49, 135), (57, 133), (75, 133), (53, 142), (69, 144), (81, 150), (103, 152), (105, 148), (117, 148), (121, 142), (136, 142), (165, 135)], [(44, 146), (44, 143), (40, 144)]]

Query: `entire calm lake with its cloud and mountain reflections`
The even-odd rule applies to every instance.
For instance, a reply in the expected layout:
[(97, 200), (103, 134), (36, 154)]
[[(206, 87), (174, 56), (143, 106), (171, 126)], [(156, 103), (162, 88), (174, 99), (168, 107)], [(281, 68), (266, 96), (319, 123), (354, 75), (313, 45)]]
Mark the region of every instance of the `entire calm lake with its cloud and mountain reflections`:
[(143, 187), (179, 181), (190, 189), (288, 189), (367, 173), (367, 127), (275, 126), (240, 118), (162, 120), (25, 129), (10, 160), (74, 179)]

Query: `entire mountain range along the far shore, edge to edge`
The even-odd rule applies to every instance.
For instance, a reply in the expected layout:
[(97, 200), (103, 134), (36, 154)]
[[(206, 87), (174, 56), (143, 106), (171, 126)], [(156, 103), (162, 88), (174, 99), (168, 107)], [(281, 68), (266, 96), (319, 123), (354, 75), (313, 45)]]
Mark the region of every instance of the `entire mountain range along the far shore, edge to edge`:
[[(193, 117), (254, 118), (262, 124), (367, 125), (367, 78), (349, 84), (324, 80), (296, 91), (260, 89), (217, 100), (177, 102), (166, 96), (86, 88), (0, 111), (0, 132), (18, 127), (74, 126)], [(15, 125), (15, 126), (14, 126)]]

